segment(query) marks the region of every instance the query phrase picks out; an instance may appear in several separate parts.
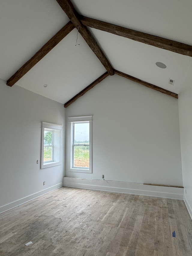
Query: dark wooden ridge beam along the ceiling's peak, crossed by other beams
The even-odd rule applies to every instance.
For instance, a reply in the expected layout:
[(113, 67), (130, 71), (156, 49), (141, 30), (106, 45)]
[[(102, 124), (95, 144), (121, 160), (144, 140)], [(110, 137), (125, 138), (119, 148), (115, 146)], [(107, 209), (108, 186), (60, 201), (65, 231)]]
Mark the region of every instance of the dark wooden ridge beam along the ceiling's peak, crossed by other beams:
[(67, 14), (69, 19), (73, 23), (73, 25), (76, 27), (76, 29), (79, 30), (79, 33), (82, 35), (85, 42), (88, 44), (91, 50), (95, 53), (95, 55), (101, 61), (105, 69), (109, 72), (111, 76), (113, 76), (114, 75), (113, 67), (111, 66), (107, 57), (104, 55), (103, 51), (99, 47), (98, 43), (95, 41), (95, 38), (88, 31), (87, 27), (84, 26), (79, 20), (79, 14), (74, 9), (70, 0), (56, 0), (56, 1), (61, 6), (63, 11)]

